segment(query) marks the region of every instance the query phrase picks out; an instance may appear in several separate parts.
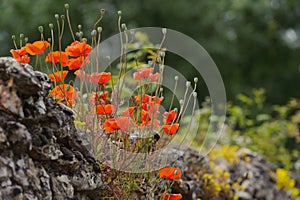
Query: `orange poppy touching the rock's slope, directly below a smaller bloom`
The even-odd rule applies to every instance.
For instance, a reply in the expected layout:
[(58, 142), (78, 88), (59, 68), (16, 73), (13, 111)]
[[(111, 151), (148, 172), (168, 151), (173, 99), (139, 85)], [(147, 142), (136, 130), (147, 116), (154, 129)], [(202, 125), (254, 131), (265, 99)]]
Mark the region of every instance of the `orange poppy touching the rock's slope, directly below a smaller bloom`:
[(69, 84), (60, 84), (51, 90), (50, 95), (58, 100), (61, 99), (71, 100), (75, 98), (76, 93), (73, 86)]

